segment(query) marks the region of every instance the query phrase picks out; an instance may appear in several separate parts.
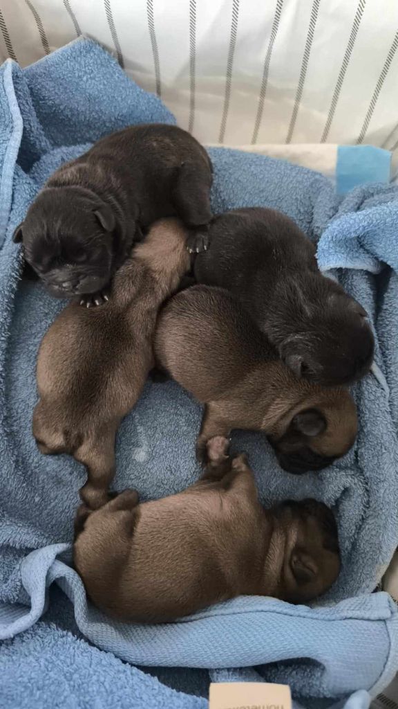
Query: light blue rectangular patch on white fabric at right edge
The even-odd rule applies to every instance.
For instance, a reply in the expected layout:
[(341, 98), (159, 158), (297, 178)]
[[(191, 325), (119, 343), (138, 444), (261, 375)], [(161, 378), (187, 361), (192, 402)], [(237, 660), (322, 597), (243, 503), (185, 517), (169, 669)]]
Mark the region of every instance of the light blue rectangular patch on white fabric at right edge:
[(339, 145), (336, 190), (347, 194), (368, 182), (390, 182), (391, 152), (374, 145)]

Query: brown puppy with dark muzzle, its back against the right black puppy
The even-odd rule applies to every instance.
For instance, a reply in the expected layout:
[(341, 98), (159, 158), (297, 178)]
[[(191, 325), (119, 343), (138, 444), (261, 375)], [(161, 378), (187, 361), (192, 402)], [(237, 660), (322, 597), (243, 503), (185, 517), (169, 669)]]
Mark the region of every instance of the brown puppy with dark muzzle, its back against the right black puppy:
[(209, 438), (233, 428), (265, 432), (291, 473), (322, 469), (353, 445), (357, 415), (348, 391), (297, 379), (224, 289), (193, 286), (171, 298), (154, 351), (158, 367), (205, 404), (198, 459)]

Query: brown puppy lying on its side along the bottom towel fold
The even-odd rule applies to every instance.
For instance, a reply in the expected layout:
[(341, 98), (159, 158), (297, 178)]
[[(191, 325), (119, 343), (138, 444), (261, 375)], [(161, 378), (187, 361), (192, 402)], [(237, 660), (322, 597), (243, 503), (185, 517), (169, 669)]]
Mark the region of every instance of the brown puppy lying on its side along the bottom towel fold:
[(246, 457), (227, 439), (207, 444), (202, 479), (138, 503), (125, 490), (76, 517), (74, 566), (98, 608), (131, 622), (164, 623), (241, 594), (307, 603), (336, 580), (331, 510), (314, 500), (264, 510)]

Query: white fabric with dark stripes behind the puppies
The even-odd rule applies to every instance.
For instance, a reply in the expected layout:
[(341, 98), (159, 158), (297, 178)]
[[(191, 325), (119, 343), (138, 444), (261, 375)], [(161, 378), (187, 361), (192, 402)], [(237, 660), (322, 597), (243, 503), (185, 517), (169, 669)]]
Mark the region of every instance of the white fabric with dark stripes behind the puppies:
[(398, 147), (398, 0), (0, 0), (2, 59), (81, 34), (205, 143)]

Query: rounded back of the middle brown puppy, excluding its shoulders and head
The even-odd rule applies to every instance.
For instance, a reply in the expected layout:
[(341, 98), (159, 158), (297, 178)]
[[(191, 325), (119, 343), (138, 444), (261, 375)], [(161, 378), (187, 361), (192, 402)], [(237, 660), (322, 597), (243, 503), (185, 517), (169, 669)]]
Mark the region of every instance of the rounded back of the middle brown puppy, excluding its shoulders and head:
[(228, 291), (193, 286), (162, 309), (154, 338), (157, 364), (200, 401), (228, 391), (258, 362), (277, 354)]

